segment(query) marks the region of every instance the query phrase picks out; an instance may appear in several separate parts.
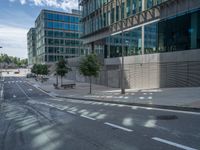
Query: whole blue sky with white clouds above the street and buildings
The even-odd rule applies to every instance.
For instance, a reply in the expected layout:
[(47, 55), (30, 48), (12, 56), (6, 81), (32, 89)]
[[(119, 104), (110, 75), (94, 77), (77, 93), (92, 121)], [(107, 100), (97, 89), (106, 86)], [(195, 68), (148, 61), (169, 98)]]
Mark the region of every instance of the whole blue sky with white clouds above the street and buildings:
[(27, 58), (27, 32), (42, 9), (71, 12), (78, 0), (0, 0), (0, 53)]

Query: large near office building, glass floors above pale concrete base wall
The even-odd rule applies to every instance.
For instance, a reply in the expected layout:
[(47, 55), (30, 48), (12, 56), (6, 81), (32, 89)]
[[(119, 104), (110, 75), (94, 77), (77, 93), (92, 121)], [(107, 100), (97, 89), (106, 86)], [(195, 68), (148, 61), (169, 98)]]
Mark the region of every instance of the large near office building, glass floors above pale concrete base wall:
[(80, 0), (81, 38), (104, 57), (97, 83), (129, 88), (200, 86), (199, 0)]

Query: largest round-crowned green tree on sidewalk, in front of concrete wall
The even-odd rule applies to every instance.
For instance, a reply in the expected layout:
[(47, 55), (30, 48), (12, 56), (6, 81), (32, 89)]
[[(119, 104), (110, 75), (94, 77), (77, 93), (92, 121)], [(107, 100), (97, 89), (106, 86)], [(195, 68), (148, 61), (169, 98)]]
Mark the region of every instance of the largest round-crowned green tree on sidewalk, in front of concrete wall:
[(100, 64), (95, 54), (84, 57), (79, 66), (80, 73), (90, 79), (90, 94), (92, 93), (92, 77), (98, 77)]

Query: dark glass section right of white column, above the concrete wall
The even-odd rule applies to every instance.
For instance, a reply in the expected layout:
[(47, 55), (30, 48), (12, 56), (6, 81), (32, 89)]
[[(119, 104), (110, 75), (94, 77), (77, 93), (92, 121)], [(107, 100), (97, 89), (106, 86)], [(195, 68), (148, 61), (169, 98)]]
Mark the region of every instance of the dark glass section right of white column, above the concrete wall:
[(200, 11), (145, 26), (145, 54), (199, 49)]

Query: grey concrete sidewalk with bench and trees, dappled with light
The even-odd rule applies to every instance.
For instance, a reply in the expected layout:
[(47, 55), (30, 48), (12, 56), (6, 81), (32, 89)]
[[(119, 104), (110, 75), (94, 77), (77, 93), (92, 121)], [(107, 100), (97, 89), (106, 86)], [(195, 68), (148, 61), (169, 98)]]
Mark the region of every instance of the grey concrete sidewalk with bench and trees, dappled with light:
[[(27, 81), (56, 97), (131, 104), (139, 106), (151, 106), (159, 108), (188, 108), (200, 110), (200, 87), (146, 90), (127, 89), (126, 94), (121, 95), (120, 89), (93, 84), (93, 91), (90, 95), (88, 94), (88, 83), (76, 82), (75, 89), (57, 90), (53, 87), (53, 83), (56, 82), (56, 79), (53, 77), (51, 77), (47, 82), (43, 84), (36, 82), (34, 79), (27, 79)], [(66, 79), (63, 80), (63, 83), (72, 82), (74, 81)]]

